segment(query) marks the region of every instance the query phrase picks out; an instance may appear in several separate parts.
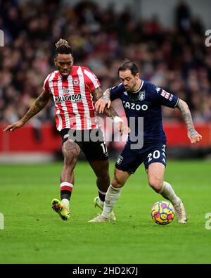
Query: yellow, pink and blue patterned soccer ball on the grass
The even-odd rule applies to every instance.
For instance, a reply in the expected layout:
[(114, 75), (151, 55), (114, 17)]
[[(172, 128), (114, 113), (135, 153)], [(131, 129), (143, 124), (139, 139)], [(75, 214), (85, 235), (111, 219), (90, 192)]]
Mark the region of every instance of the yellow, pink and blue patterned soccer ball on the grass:
[(154, 203), (151, 208), (151, 217), (153, 221), (159, 225), (167, 225), (174, 219), (175, 211), (172, 203), (167, 201), (159, 201)]

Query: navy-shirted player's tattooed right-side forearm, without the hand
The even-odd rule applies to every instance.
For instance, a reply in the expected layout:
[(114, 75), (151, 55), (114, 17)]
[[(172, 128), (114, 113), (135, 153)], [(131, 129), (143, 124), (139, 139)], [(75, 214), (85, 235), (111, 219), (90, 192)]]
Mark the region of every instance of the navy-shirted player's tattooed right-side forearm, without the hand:
[(191, 111), (189, 110), (187, 103), (185, 101), (182, 101), (181, 99), (179, 99), (179, 103), (177, 104), (177, 108), (179, 108), (179, 110), (181, 111), (181, 115), (182, 115), (182, 118), (184, 119), (184, 122), (186, 123), (188, 133), (191, 136), (196, 135), (197, 132), (196, 132), (194, 126), (193, 126)]

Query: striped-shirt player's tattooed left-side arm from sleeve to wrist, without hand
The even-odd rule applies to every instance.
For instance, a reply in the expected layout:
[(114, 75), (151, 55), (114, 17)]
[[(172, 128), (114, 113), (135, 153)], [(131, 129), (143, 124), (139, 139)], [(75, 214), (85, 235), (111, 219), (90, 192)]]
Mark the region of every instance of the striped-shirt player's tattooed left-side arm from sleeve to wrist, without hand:
[(32, 118), (34, 115), (39, 113), (49, 102), (49, 99), (51, 98), (51, 94), (44, 93), (44, 91), (41, 92), (39, 97), (36, 99), (30, 110), (27, 111), (27, 113), (23, 116), (22, 120), (23, 122), (27, 122)]

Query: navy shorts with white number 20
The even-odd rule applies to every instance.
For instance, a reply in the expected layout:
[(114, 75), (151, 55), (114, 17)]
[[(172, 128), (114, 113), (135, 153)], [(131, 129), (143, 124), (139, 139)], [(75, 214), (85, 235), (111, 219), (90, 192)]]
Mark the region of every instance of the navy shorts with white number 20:
[(133, 150), (130, 144), (125, 144), (122, 153), (117, 158), (115, 167), (119, 170), (134, 174), (143, 163), (145, 169), (151, 163), (159, 162), (166, 166), (166, 142), (155, 142), (143, 146), (142, 149)]

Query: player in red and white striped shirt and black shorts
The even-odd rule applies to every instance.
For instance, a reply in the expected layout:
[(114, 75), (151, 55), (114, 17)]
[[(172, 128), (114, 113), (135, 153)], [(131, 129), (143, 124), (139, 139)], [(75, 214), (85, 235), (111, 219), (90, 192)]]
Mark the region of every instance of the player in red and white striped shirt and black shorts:
[[(51, 206), (63, 220), (68, 220), (70, 196), (75, 182), (74, 168), (81, 151), (84, 152), (96, 175), (98, 196), (94, 198), (95, 206), (103, 209), (106, 191), (110, 185), (108, 151), (101, 129), (98, 127), (94, 108), (94, 101), (103, 94), (101, 84), (91, 70), (73, 65), (72, 48), (65, 39), (60, 39), (56, 43), (54, 63), (58, 70), (46, 77), (43, 91), (30, 110), (18, 122), (8, 125), (4, 132), (13, 132), (23, 127), (53, 96), (56, 128), (62, 137), (64, 163), (60, 175), (60, 200), (54, 198)], [(120, 134), (129, 132), (113, 108), (106, 109), (105, 113), (114, 120)], [(113, 212), (111, 217), (115, 220)]]

